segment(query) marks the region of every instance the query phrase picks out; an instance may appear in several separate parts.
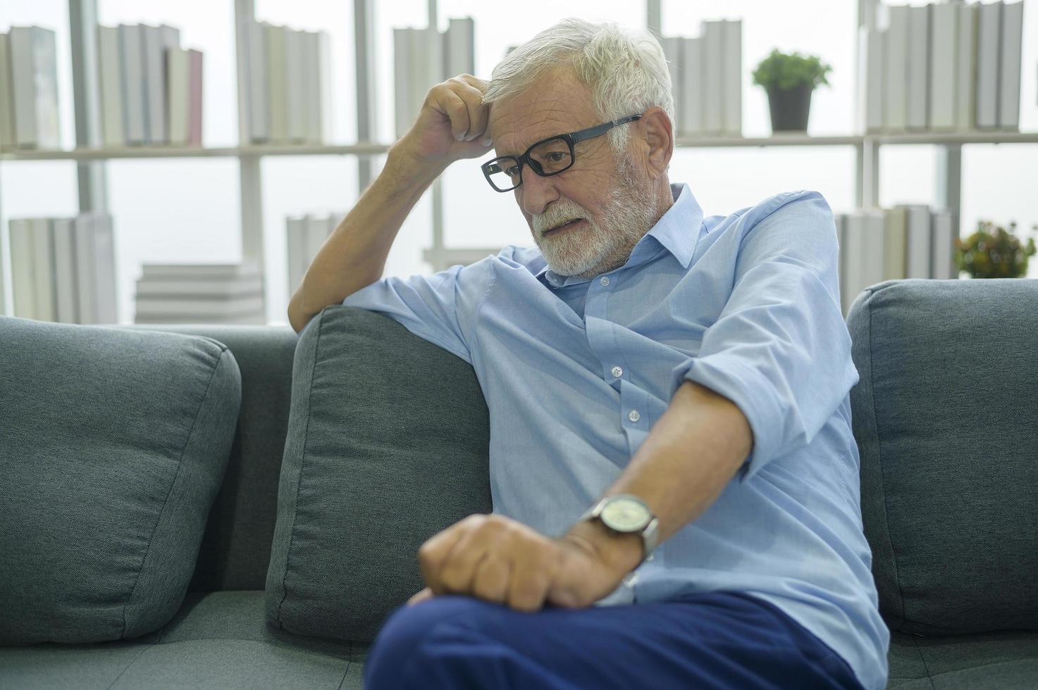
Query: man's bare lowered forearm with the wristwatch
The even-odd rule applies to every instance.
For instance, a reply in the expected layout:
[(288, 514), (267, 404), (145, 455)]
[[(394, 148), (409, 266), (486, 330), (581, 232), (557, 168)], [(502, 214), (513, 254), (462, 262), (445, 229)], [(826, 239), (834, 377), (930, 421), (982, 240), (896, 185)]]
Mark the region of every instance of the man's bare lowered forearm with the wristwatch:
[[(662, 543), (717, 500), (752, 447), (753, 432), (739, 408), (686, 381), (604, 495), (634, 494), (648, 503)], [(613, 534), (599, 520), (577, 523), (566, 536), (586, 540), (624, 572), (641, 560), (640, 536)]]

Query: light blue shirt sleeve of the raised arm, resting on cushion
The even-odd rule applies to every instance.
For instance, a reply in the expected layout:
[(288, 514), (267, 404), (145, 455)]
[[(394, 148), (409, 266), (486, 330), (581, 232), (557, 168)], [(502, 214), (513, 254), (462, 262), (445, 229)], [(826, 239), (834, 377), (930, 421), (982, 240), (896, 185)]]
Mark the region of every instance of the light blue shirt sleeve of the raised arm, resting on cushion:
[(381, 278), (349, 295), (343, 304), (384, 313), (471, 364), (472, 329), (490, 282), (491, 260), (453, 266), (433, 275)]

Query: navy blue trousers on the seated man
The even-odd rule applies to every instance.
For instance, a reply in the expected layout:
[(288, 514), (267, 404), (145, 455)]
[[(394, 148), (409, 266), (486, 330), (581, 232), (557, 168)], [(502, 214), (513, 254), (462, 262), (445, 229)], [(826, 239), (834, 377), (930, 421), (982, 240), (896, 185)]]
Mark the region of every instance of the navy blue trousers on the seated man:
[(394, 609), (365, 690), (853, 689), (829, 646), (768, 602), (711, 591), (648, 604), (517, 611), (446, 595)]

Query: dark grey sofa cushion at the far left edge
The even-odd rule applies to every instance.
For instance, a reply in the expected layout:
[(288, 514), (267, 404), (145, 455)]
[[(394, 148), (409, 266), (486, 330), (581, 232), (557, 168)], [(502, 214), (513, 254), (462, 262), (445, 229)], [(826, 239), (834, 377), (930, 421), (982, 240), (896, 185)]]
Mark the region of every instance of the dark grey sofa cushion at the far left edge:
[(200, 337), (0, 318), (0, 643), (176, 612), (230, 450), (238, 365)]

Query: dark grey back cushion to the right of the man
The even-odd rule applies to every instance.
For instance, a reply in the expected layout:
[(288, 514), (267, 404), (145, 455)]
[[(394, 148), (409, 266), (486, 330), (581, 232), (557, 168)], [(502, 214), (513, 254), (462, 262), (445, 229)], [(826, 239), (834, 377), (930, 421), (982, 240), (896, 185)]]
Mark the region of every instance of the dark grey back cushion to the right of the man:
[(1038, 281), (887, 281), (847, 325), (887, 625), (1038, 629)]

